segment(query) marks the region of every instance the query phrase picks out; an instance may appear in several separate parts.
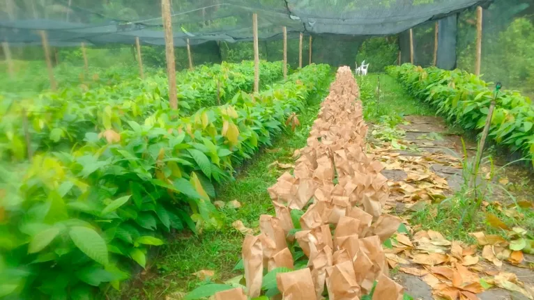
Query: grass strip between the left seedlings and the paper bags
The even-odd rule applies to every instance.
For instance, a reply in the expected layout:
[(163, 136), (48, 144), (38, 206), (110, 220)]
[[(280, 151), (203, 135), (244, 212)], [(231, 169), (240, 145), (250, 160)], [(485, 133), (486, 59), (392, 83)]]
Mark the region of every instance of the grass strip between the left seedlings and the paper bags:
[(240, 274), (233, 269), (241, 259), (243, 235), (231, 223), (241, 220), (248, 228), (257, 228), (261, 214), (274, 214), (267, 188), (284, 170), (269, 165), (273, 161), (293, 162), (293, 151), (306, 145), (321, 100), (328, 93), (326, 87), (319, 90), (321, 93), (317, 93), (298, 116), (301, 125), (295, 132), (284, 132), (272, 148), (262, 150), (243, 166), (236, 180), (218, 187), (218, 196), (214, 200), (238, 200), (242, 207), (237, 210), (223, 208), (222, 228), (218, 231), (197, 236), (181, 233), (160, 247), (147, 271), (139, 274), (130, 287), (123, 290), (122, 299), (162, 299), (171, 292), (188, 292), (201, 285), (202, 281), (193, 273), (202, 269), (215, 271), (212, 281), (224, 281)]

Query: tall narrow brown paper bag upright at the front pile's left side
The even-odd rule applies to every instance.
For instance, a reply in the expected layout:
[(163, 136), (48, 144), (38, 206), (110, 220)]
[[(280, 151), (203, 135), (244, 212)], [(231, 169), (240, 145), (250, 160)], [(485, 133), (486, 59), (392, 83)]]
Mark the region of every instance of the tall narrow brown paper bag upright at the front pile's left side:
[(249, 297), (259, 297), (261, 281), (264, 276), (264, 251), (261, 240), (254, 235), (247, 235), (243, 241), (243, 265), (245, 267), (245, 280)]

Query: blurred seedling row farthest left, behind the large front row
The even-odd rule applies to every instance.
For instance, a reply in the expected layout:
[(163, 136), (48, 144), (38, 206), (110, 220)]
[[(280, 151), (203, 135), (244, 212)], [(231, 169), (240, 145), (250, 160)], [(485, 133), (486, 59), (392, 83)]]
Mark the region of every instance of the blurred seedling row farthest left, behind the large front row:
[[(270, 84), (282, 76), (282, 63), (261, 62), (261, 80)], [(141, 122), (158, 111), (172, 116), (188, 116), (202, 106), (222, 103), (238, 90), (250, 92), (254, 82), (254, 64), (200, 66), (192, 72), (178, 73), (179, 110), (171, 112), (165, 74), (144, 80), (132, 79), (112, 86), (63, 88), (59, 92), (42, 93), (19, 99), (3, 97), (0, 103), (0, 159), (26, 158), (29, 140), (33, 152), (39, 150), (68, 151), (84, 139), (86, 132), (119, 129), (129, 120)], [(24, 120), (24, 114), (27, 120)], [(25, 131), (25, 124), (27, 134)]]

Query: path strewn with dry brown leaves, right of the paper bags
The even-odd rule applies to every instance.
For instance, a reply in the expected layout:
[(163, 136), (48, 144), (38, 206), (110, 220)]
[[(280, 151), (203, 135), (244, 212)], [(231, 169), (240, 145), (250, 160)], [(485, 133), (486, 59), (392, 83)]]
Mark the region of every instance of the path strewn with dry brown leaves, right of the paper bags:
[[(448, 282), (451, 278), (448, 278), (447, 274), (441, 274), (440, 276), (439, 270), (432, 264), (415, 262), (417, 255), (420, 255), (420, 253), (426, 253), (423, 255), (432, 255), (432, 253), (441, 255), (441, 253), (445, 253), (443, 265), (450, 264), (450, 268), (447, 267), (450, 270), (456, 270), (455, 267), (457, 267), (460, 273), (465, 271), (464, 274), (476, 276), (478, 279), (496, 275), (499, 272), (508, 272), (508, 274), (517, 275), (518, 281), (514, 281), (514, 283), (528, 291), (528, 286), (534, 284), (534, 272), (528, 268), (530, 264), (523, 262), (512, 265), (503, 259), (501, 260), (502, 267), (496, 267), (496, 265), (483, 258), (485, 254), (481, 254), (481, 247), (478, 248), (477, 253), (472, 255), (473, 257), (476, 255), (477, 263), (472, 265), (470, 265), (471, 263), (462, 263), (462, 260), (466, 262), (465, 259), (467, 257), (460, 254), (457, 257), (458, 259), (453, 258), (452, 248), (448, 248), (450, 242), (452, 242), (452, 245), (460, 243), (452, 239), (443, 244), (434, 243), (439, 246), (426, 248), (426, 251), (421, 250), (424, 247), (415, 237), (418, 235), (418, 231), (421, 230), (421, 226), (415, 225), (415, 222), (411, 221), (411, 216), (415, 212), (432, 205), (432, 203), (437, 203), (461, 190), (462, 184), (464, 184), (461, 158), (464, 155), (461, 136), (450, 132), (442, 118), (434, 116), (405, 116), (404, 121), (406, 122), (398, 125), (392, 133), (390, 129), (375, 125), (374, 128), (369, 130), (372, 134), (368, 137), (369, 152), (378, 156), (386, 166), (382, 174), (388, 177), (390, 186), (391, 194), (388, 208), (392, 214), (402, 216), (406, 220), (407, 227), (412, 235), (413, 244), (409, 239), (407, 242), (400, 242), (401, 239), (399, 237), (396, 242), (393, 242), (392, 249), (388, 250), (392, 255), (388, 257), (390, 267), (393, 270), (392, 278), (397, 283), (404, 285), (406, 292), (411, 294), (414, 299), (456, 299), (454, 294), (457, 294), (459, 299), (471, 299), (462, 294), (461, 288), (455, 291), (448, 290), (451, 294), (448, 294), (448, 292), (436, 293), (440, 289), (443, 290), (443, 285), (439, 286), (432, 279), (438, 278), (438, 281)], [(387, 137), (384, 137), (383, 134), (385, 130), (390, 131)], [(476, 145), (468, 143), (466, 150), (469, 157), (474, 157)], [(432, 214), (432, 209), (429, 210), (429, 213)], [(430, 237), (432, 239), (432, 235)], [(402, 240), (404, 241), (404, 239)], [(407, 246), (407, 244), (410, 246)], [(468, 245), (465, 243), (461, 243), (461, 245), (464, 248), (464, 253), (466, 253)], [(528, 256), (525, 254), (524, 260), (533, 261)], [(466, 267), (457, 266), (456, 264), (459, 263), (466, 265)], [(435, 265), (438, 266), (441, 263), (436, 263)], [(414, 271), (414, 269), (420, 270), (420, 273), (418, 274), (418, 271)], [(408, 274), (405, 272), (406, 270), (422, 276)], [(427, 274), (431, 274), (432, 277)], [(466, 282), (464, 276), (464, 283)], [(524, 283), (524, 285), (522, 286), (521, 283)], [(513, 288), (510, 289), (513, 290)], [(436, 298), (433, 298), (433, 290)], [(532, 296), (527, 296), (528, 293), (521, 294), (519, 290), (510, 291), (492, 287), (476, 294), (476, 297), (482, 300), (532, 299)], [(440, 296), (442, 298), (439, 298)]]

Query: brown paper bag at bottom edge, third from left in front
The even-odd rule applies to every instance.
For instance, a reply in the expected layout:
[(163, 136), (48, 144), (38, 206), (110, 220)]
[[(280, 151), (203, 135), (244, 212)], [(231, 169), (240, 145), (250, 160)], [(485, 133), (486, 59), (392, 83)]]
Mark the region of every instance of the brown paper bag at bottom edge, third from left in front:
[(356, 283), (354, 267), (352, 262), (342, 262), (327, 269), (326, 287), (328, 289), (328, 299), (348, 300), (358, 299), (361, 290)]

